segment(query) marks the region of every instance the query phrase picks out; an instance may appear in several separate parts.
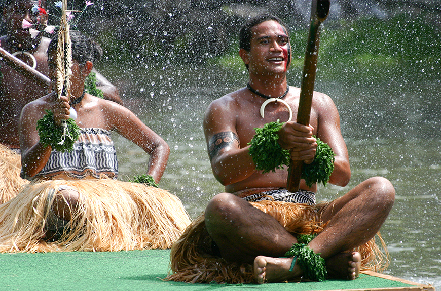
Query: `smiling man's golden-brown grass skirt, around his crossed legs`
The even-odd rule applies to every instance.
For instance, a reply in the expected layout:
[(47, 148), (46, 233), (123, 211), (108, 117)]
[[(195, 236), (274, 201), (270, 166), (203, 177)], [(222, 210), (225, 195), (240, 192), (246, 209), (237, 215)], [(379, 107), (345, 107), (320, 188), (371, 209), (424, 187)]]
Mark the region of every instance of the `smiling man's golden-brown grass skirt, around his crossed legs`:
[[(320, 233), (323, 225), (320, 215), (326, 204), (309, 206), (289, 202), (250, 202), (254, 207), (274, 217), (293, 235)], [(385, 244), (379, 236), (385, 253), (375, 243), (375, 238), (356, 248), (360, 252), (363, 270), (376, 272), (384, 270), (389, 257)], [(205, 227), (205, 217), (201, 214), (173, 244), (170, 253), (171, 272), (166, 280), (188, 283), (250, 283), (253, 281), (253, 266), (229, 263), (214, 257), (211, 251), (212, 239)]]

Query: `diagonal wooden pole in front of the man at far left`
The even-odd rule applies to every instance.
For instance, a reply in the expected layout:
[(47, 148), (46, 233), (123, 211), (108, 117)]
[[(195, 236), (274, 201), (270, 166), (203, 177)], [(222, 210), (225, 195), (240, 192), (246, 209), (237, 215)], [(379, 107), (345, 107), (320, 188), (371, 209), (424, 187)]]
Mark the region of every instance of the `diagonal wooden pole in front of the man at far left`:
[(51, 80), (47, 76), (35, 69), (32, 69), (32, 67), (30, 67), (28, 64), (17, 59), (3, 48), (0, 48), (0, 57), (3, 58), (3, 61), (8, 64), (8, 66), (21, 73), (23, 76), (33, 80), (40, 87), (45, 89), (50, 88)]

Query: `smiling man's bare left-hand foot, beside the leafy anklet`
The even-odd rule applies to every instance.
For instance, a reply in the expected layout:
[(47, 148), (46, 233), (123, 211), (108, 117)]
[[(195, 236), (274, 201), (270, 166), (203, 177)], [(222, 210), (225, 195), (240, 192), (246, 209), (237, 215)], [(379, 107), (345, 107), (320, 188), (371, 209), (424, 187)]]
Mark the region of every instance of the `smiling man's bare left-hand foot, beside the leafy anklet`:
[(282, 282), (300, 277), (302, 271), (296, 264), (290, 272), (292, 258), (272, 258), (258, 256), (254, 259), (253, 274), (258, 284), (267, 282)]

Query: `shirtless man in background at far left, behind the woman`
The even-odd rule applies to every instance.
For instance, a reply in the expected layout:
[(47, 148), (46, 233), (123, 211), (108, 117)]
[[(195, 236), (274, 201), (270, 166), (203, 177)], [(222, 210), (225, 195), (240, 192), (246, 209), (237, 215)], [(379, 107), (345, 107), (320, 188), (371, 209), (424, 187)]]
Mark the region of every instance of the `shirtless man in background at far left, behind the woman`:
[[(39, 33), (31, 38), (29, 29), (22, 28), (23, 19), (35, 24), (47, 24), (47, 16), (40, 16), (32, 12), (36, 0), (9, 0), (3, 8), (3, 21), (6, 24), (6, 35), (0, 37), (0, 46), (11, 54), (27, 52), (32, 54), (36, 62), (36, 70), (48, 75), (47, 64), (48, 45), (50, 39), (42, 37)], [(41, 6), (46, 9), (45, 0)], [(33, 65), (33, 60), (26, 53), (18, 53), (16, 57), (28, 65)], [(106, 78), (96, 73), (97, 87), (103, 91), (104, 98), (122, 104), (117, 88)], [(48, 94), (47, 90), (36, 85), (32, 80), (24, 77), (7, 64), (0, 61), (0, 144), (11, 149), (20, 147), (18, 137), (18, 119), (21, 109), (32, 100)]]

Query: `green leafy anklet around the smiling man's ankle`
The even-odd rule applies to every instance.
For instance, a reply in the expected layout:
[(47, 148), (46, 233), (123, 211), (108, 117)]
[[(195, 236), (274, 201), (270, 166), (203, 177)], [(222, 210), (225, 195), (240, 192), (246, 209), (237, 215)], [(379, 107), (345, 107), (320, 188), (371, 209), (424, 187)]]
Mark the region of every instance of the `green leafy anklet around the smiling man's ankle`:
[(314, 281), (326, 280), (327, 271), (324, 259), (314, 253), (308, 245), (304, 243), (293, 244), (291, 249), (286, 252), (285, 257), (294, 257), (290, 271), (297, 260), (306, 277)]

